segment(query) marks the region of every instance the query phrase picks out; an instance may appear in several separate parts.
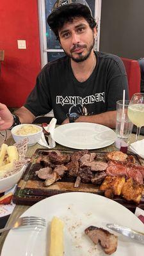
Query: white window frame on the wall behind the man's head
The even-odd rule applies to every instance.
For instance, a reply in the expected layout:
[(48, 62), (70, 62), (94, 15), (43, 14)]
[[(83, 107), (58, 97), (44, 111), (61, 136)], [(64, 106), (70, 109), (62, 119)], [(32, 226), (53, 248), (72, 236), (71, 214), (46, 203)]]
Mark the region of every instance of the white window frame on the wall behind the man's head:
[[(102, 0), (95, 0), (95, 20), (98, 25), (97, 38), (95, 40), (95, 49), (99, 51), (100, 42), (100, 15), (101, 15)], [(45, 20), (45, 0), (38, 0), (38, 16), (39, 16), (39, 30), (40, 30), (40, 53), (41, 65), (44, 67), (47, 64), (47, 52), (63, 52), (63, 49), (47, 49), (46, 38), (46, 20)]]

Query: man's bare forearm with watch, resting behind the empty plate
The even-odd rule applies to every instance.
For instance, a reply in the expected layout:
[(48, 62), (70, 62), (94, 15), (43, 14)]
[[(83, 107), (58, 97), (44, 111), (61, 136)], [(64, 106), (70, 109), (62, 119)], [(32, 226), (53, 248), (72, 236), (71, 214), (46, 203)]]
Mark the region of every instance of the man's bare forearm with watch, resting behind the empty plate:
[[(109, 128), (115, 129), (116, 124), (116, 111), (108, 111), (98, 115), (92, 116), (79, 116), (75, 122), (89, 122), (95, 124), (106, 125)], [(62, 124), (68, 124), (68, 118), (63, 121)]]

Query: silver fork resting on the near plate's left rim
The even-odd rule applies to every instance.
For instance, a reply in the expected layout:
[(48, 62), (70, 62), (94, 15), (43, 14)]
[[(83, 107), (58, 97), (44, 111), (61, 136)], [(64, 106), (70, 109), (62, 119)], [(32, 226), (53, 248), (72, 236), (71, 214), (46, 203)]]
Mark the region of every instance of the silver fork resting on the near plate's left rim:
[(26, 216), (21, 217), (17, 221), (15, 221), (12, 225), (5, 228), (0, 228), (0, 233), (6, 230), (20, 228), (20, 227), (36, 227), (36, 228), (44, 228), (46, 226), (46, 221), (44, 218), (35, 217), (35, 216)]

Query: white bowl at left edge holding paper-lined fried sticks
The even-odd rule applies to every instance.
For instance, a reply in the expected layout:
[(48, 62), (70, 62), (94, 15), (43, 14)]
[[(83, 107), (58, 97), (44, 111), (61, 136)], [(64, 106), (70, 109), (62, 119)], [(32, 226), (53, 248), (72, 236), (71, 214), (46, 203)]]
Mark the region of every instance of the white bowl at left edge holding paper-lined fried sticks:
[(22, 166), (19, 172), (13, 173), (12, 175), (0, 179), (0, 193), (5, 192), (6, 190), (12, 188), (20, 180), (22, 173), (26, 170), (26, 164)]

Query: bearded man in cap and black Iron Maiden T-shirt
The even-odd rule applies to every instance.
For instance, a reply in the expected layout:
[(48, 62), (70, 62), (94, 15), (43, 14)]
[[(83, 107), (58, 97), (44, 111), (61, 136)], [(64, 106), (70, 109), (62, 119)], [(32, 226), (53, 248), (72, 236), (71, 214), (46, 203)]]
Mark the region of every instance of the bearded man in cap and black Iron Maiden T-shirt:
[(116, 100), (128, 98), (127, 75), (120, 58), (94, 52), (96, 22), (84, 0), (57, 0), (47, 22), (66, 56), (47, 63), (26, 104), (12, 116), (0, 105), (0, 129), (31, 123), (53, 109), (58, 124), (92, 122), (115, 127)]

